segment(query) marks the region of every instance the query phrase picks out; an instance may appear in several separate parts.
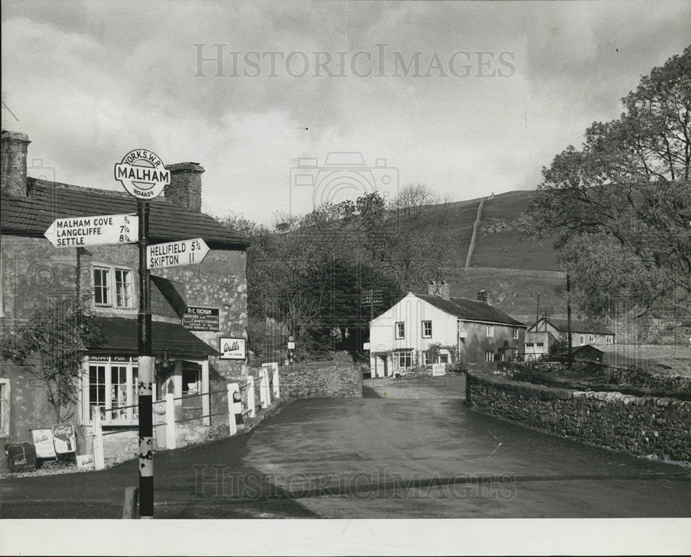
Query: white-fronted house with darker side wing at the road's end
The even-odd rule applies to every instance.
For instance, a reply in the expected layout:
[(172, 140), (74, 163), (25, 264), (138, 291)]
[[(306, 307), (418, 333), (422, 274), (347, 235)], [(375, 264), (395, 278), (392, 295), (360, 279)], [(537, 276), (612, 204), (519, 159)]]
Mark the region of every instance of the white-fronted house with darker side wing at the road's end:
[(509, 360), (523, 352), (525, 329), (484, 301), (450, 298), (448, 285), (433, 283), (430, 294), (409, 292), (370, 321), (372, 377), (437, 363)]

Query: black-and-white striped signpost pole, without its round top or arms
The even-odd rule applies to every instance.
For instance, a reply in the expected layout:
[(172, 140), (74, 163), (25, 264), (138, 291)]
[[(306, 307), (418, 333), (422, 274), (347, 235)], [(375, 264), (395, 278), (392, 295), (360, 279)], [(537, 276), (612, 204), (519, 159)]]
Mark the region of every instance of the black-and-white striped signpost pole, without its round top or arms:
[(153, 518), (153, 384), (154, 359), (151, 348), (151, 291), (146, 268), (149, 244), (149, 202), (137, 201), (139, 217), (139, 515)]

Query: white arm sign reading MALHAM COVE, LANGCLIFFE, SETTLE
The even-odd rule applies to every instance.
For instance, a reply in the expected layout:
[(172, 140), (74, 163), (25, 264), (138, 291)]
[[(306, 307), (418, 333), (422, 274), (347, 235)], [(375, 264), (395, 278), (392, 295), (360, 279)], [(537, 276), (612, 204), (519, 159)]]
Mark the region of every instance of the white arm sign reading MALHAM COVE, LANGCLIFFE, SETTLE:
[(44, 236), (55, 247), (131, 244), (139, 239), (139, 218), (135, 215), (56, 218)]

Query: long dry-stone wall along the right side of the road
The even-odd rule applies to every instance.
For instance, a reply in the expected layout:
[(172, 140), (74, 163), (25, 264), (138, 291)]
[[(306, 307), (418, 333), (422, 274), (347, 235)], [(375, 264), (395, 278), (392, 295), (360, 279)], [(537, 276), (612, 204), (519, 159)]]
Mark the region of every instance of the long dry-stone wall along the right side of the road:
[(614, 451), (691, 462), (691, 402), (549, 388), (468, 372), (466, 404)]

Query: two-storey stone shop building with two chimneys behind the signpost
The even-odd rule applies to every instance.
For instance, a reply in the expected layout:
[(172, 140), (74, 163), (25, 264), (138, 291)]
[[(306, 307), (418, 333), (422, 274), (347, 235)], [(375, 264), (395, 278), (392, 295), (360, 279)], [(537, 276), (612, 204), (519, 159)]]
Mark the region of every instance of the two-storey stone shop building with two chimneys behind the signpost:
[[(44, 233), (56, 218), (135, 214), (124, 191), (67, 185), (27, 176), (30, 141), (2, 132), (0, 324), (9, 332), (35, 305), (47, 307), (86, 294), (97, 314), (102, 341), (84, 355), (79, 393), (69, 421), (91, 423), (100, 408), (106, 428), (138, 422), (138, 247), (135, 244), (56, 248)], [(202, 263), (151, 272), (155, 399), (223, 390), (246, 374), (246, 360), (222, 359), (220, 339), (247, 337), (245, 238), (201, 212), (204, 169), (196, 162), (167, 167), (171, 183), (151, 200), (150, 243), (203, 238), (211, 248)], [(196, 308), (204, 319), (189, 319)], [(200, 324), (203, 322), (202, 324)], [(204, 330), (202, 330), (204, 329)], [(30, 366), (3, 361), (0, 371), (0, 442), (30, 440), (30, 429), (50, 428), (55, 412)], [(227, 408), (225, 395), (180, 398), (180, 414), (200, 418)], [(227, 421), (226, 417), (216, 419)]]

